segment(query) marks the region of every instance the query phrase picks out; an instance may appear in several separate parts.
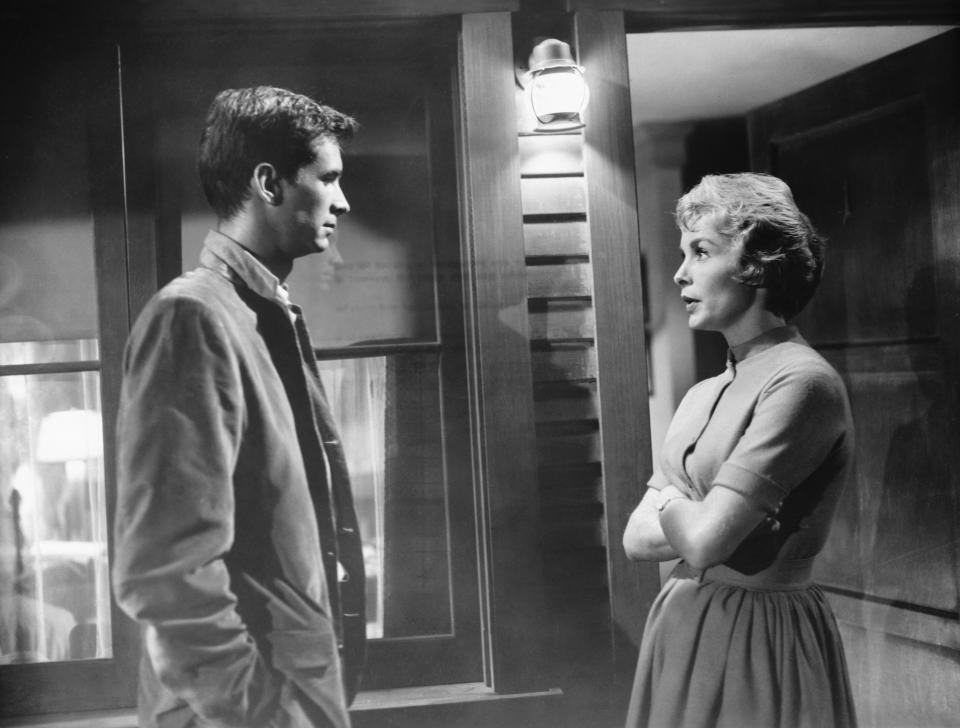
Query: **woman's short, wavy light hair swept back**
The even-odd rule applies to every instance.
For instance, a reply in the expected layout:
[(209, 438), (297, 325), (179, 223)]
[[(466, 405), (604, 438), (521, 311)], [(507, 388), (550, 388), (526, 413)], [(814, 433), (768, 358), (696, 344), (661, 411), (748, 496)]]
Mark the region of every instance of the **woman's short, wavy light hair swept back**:
[(766, 288), (767, 308), (778, 316), (791, 319), (803, 310), (820, 283), (826, 244), (783, 180), (749, 172), (707, 175), (676, 210), (681, 230), (704, 218), (740, 247), (734, 280)]

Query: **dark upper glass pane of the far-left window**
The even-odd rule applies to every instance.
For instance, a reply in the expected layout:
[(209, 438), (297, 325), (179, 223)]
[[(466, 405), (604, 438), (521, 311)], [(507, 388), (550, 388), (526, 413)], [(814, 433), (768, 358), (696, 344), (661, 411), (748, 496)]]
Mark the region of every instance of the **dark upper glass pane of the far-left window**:
[[(18, 112), (0, 119), (0, 155), (15, 175), (0, 182), (0, 359), (10, 342), (98, 335), (93, 218), (83, 84), (77, 69), (41, 57), (14, 90)], [(33, 63), (31, 63), (33, 66)], [(35, 347), (35, 361), (75, 358), (70, 346)], [(16, 363), (27, 363), (17, 361)]]

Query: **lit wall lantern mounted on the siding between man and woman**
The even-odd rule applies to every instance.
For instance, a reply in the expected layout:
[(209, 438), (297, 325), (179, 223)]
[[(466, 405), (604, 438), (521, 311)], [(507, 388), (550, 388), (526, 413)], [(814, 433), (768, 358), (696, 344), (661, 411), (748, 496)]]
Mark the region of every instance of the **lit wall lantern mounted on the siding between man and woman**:
[(533, 47), (524, 79), (530, 104), (537, 117), (534, 131), (559, 132), (581, 129), (581, 115), (589, 91), (583, 67), (573, 60), (570, 45), (547, 38)]

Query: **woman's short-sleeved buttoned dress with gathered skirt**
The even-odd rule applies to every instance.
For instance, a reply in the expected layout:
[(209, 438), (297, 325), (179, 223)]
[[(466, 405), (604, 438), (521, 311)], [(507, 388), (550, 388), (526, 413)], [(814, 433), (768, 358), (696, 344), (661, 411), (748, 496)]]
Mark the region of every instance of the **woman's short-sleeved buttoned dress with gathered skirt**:
[(674, 569), (650, 610), (629, 728), (856, 725), (833, 613), (812, 583), (853, 455), (846, 391), (793, 327), (735, 347), (693, 387), (650, 487), (725, 487), (777, 513), (725, 564)]

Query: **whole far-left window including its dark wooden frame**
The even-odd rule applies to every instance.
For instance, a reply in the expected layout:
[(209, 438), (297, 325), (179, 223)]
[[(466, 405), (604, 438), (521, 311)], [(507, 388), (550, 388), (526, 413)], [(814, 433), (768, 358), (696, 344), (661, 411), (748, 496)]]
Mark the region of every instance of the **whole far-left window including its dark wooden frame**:
[(5, 77), (17, 111), (0, 120), (16, 170), (0, 193), (0, 716), (129, 703), (132, 686), (115, 659), (131, 641), (110, 598), (104, 417), (126, 329), (106, 209), (122, 200), (116, 51), (111, 69), (110, 49), (25, 34), (4, 53), (31, 63)]

